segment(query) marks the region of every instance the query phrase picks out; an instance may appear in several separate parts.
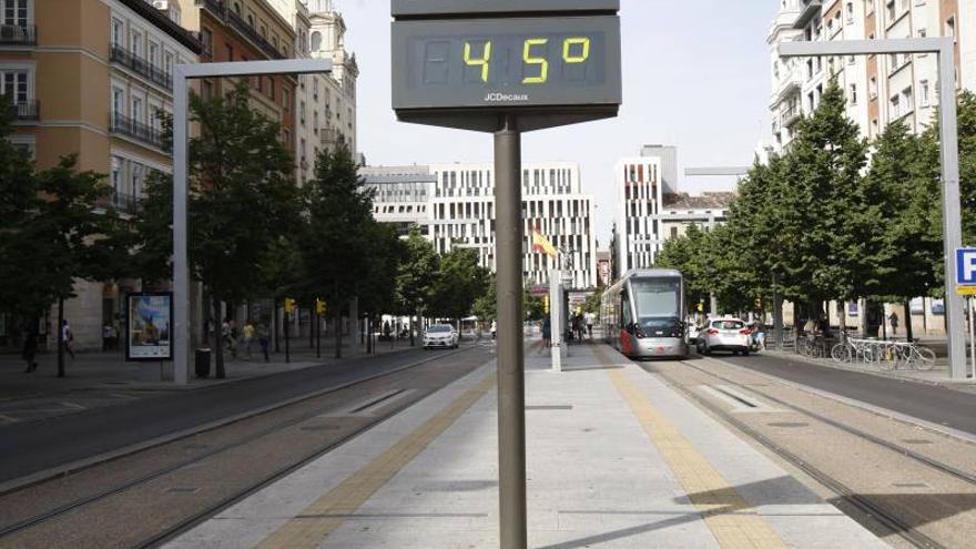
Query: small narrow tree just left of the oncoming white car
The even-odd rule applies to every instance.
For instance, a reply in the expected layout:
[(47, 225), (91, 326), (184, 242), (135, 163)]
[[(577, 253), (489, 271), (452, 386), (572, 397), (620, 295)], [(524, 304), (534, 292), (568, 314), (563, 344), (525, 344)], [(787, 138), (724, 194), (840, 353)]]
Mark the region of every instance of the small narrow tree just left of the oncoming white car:
[[(396, 274), (396, 301), (398, 313), (419, 317), (429, 302), (429, 296), (439, 268), (439, 257), (434, 245), (420, 234), (417, 226), (410, 227), (404, 242), (404, 261)], [(414, 345), (414, 329), (410, 329), (410, 346)]]

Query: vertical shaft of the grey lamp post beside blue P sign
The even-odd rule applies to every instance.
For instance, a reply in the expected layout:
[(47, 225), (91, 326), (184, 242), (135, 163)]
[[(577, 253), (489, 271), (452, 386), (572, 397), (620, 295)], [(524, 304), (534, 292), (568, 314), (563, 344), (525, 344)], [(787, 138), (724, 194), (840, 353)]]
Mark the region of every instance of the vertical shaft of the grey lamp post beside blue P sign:
[(959, 205), (959, 135), (956, 126), (955, 47), (945, 40), (938, 53), (939, 142), (942, 148), (945, 287), (949, 369), (953, 379), (966, 378), (965, 301), (956, 292), (956, 248), (963, 246)]

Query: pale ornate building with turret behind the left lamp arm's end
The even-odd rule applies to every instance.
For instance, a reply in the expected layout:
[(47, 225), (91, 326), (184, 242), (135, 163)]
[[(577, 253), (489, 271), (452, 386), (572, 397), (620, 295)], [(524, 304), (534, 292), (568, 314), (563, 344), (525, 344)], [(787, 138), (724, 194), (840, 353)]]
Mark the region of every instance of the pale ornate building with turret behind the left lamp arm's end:
[(344, 144), (356, 157), (356, 55), (345, 49), (346, 23), (333, 0), (267, 0), (295, 29), (295, 57), (328, 59), (331, 74), (303, 74), (295, 90), (295, 163), (299, 185), (315, 159)]

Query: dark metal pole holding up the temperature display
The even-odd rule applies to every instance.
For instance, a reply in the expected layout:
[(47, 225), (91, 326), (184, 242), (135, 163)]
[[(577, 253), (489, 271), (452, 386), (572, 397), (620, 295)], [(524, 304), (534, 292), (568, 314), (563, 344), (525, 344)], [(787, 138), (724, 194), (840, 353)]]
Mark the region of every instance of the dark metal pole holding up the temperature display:
[(525, 549), (526, 394), (522, 338), (521, 134), (514, 116), (495, 133), (495, 193), (498, 211), (498, 476), (500, 540)]

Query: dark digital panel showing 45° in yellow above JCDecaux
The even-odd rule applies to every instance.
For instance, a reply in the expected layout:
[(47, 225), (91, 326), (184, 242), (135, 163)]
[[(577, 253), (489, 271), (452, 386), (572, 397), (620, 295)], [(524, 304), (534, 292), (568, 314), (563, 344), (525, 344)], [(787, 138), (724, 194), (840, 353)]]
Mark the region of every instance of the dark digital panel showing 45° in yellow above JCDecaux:
[(394, 109), (619, 104), (616, 16), (398, 21)]

